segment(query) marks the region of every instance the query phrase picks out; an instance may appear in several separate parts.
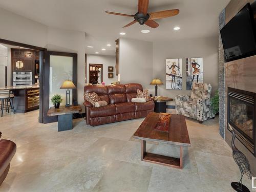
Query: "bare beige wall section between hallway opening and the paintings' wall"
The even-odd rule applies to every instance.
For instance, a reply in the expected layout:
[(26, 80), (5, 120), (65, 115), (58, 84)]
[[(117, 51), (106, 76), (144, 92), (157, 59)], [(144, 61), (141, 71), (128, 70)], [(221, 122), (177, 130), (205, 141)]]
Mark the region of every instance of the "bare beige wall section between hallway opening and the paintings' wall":
[(119, 39), (119, 74), (121, 83), (141, 83), (143, 89), (154, 93), (153, 43), (142, 40)]

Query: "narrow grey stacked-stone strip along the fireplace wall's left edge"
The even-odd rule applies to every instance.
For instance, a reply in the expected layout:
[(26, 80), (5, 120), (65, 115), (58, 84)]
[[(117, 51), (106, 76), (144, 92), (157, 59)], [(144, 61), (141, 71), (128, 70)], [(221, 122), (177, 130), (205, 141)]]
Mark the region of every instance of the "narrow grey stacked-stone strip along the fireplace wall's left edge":
[[(225, 26), (225, 9), (219, 16), (219, 29)], [(219, 113), (220, 113), (220, 135), (225, 138), (225, 62), (224, 50), (222, 46), (221, 35), (219, 32)]]

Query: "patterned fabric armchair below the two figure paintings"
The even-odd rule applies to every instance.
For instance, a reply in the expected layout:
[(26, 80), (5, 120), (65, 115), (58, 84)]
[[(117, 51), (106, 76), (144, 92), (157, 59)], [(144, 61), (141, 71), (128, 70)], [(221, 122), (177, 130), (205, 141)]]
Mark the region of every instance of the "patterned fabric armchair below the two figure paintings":
[(199, 123), (214, 118), (210, 104), (211, 85), (194, 82), (191, 96), (177, 95), (175, 97), (176, 114), (197, 119)]

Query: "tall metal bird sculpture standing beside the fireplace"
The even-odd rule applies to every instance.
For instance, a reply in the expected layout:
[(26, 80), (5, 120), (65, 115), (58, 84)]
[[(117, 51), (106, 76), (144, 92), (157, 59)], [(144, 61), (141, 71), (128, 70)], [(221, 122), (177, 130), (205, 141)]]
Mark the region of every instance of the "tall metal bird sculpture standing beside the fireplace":
[[(232, 129), (231, 129), (232, 130)], [(245, 157), (245, 155), (238, 150), (236, 145), (234, 145), (234, 139), (236, 138), (236, 133), (232, 130), (232, 141), (231, 141), (231, 146), (232, 146), (232, 155), (234, 162), (237, 163), (240, 172), (241, 172), (241, 179), (238, 182), (232, 182), (231, 186), (233, 187), (234, 190), (236, 191), (243, 191), (247, 192), (250, 191), (245, 185), (243, 185), (243, 176), (244, 174), (247, 175), (248, 179), (251, 180), (251, 169), (250, 169), (250, 163), (248, 159)]]

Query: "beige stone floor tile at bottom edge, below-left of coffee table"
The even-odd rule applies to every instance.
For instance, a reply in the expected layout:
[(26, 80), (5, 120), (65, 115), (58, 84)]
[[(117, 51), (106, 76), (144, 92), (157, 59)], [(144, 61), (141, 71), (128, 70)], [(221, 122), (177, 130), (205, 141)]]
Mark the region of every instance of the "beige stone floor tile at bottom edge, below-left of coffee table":
[(93, 191), (147, 191), (151, 172), (152, 167), (115, 160), (105, 168)]

